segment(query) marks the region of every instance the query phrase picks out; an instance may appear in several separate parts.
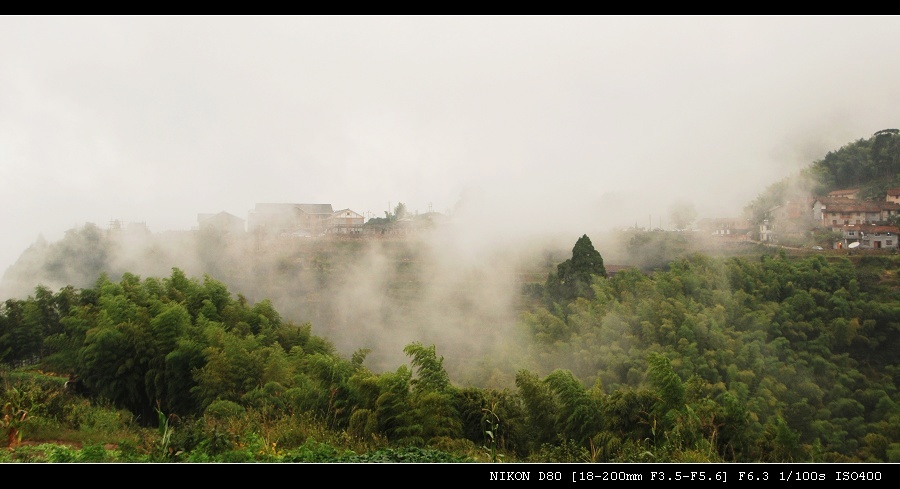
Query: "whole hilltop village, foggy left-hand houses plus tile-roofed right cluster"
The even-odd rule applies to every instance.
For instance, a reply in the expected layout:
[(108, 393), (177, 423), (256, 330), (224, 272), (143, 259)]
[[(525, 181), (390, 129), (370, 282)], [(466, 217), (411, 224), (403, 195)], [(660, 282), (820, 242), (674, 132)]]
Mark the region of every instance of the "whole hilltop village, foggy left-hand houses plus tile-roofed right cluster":
[[(747, 218), (704, 218), (693, 231), (701, 236), (771, 244), (800, 244), (831, 249), (898, 249), (900, 187), (882, 201), (860, 200), (859, 189), (829, 192), (822, 197), (787, 200), (766, 213), (761, 222)], [(331, 204), (260, 203), (242, 219), (228, 212), (199, 214), (200, 231), (247, 233), (257, 238), (325, 235), (397, 235), (428, 227), (446, 218), (429, 212), (409, 215), (399, 205), (385, 218), (366, 219), (351, 209)]]

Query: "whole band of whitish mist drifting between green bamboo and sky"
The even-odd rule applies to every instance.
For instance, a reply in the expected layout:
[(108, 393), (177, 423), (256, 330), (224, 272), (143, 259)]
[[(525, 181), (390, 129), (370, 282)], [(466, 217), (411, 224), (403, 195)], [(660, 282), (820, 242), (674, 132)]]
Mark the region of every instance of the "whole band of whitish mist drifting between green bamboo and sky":
[[(900, 141), (893, 132), (890, 137)], [(896, 171), (890, 178), (874, 178), (859, 170), (875, 167), (867, 163), (878, 160), (869, 148), (873, 141), (848, 144), (766, 188), (745, 209), (744, 234), (729, 239), (718, 230), (711, 237), (709, 229), (698, 229), (690, 202), (672, 206), (656, 223), (650, 215), (634, 226), (610, 229), (602, 227), (602, 213), (584, 210), (559, 218), (497, 217), (483, 212), (492, 206), (480, 193), (462, 200), (452, 217), (428, 219), (427, 226), (394, 228), (389, 220), (376, 220), (387, 227), (371, 232), (364, 226), (368, 232), (361, 234), (312, 237), (215, 226), (154, 233), (142, 223), (114, 221), (105, 228), (88, 223), (57, 241), (36, 240), (3, 274), (0, 300), (25, 298), (37, 286), (88, 288), (102, 274), (112, 280), (125, 273), (166, 277), (178, 268), (189, 277), (221, 281), (251, 303), (272, 301), (284, 319), (309, 323), (344, 355), (371, 350), (367, 361), (376, 370), (402, 363), (404, 346), (423, 342), (438, 347), (458, 381), (508, 385), (526, 350), (520, 315), (536, 299), (529, 290), (569, 258), (581, 234), (590, 235), (607, 265), (644, 271), (694, 252), (753, 253), (754, 223), (788, 199), (848, 183), (837, 176), (851, 175), (856, 178), (851, 183), (865, 184), (883, 198), (884, 189), (897, 183)], [(900, 144), (888, 148), (896, 166)], [(674, 230), (664, 229), (664, 217)], [(482, 377), (464, 378), (472, 369), (463, 367), (475, 362)], [(504, 372), (498, 374), (503, 377), (484, 376), (491, 371)]]

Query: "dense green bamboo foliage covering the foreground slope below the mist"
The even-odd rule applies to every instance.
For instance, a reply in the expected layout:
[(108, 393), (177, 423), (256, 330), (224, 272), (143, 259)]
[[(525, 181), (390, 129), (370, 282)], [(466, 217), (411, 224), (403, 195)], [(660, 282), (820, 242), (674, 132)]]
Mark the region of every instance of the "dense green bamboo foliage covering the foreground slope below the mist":
[(0, 430), (96, 431), (73, 416), (89, 399), (158, 428), (152, 453), (178, 461), (900, 461), (896, 256), (693, 255), (606, 278), (579, 244), (558, 270), (594, 270), (590, 293), (523, 314), (530, 363), (502, 389), (454, 385), (420, 343), (370, 371), (367, 351), (343, 358), (179, 269), (39, 286), (0, 307), (0, 361), (72, 374), (87, 397), (8, 372)]

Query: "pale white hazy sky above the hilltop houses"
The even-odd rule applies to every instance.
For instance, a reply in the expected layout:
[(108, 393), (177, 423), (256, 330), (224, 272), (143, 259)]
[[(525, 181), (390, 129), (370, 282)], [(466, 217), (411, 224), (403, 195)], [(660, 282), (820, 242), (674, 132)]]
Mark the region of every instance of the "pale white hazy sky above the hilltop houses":
[(0, 273), (85, 222), (258, 202), (729, 217), (898, 108), (891, 16), (3, 16)]

